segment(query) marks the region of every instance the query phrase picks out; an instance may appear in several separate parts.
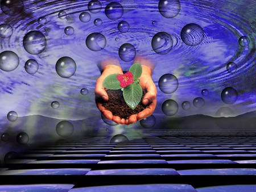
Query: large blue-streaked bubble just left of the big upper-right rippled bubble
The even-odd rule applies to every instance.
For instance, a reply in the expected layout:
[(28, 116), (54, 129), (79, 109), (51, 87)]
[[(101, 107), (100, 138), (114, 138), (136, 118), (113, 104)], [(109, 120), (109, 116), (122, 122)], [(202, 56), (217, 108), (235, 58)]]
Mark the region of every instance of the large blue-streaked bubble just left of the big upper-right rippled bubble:
[(172, 37), (166, 32), (159, 32), (155, 34), (151, 41), (153, 50), (160, 55), (165, 55), (170, 52), (172, 44)]

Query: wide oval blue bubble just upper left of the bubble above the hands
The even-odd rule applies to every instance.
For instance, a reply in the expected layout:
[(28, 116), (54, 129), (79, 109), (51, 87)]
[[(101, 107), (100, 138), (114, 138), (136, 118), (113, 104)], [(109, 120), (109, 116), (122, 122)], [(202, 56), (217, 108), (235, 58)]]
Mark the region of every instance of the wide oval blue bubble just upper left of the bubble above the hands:
[(85, 44), (92, 51), (101, 51), (106, 46), (106, 38), (104, 35), (94, 32), (88, 35)]

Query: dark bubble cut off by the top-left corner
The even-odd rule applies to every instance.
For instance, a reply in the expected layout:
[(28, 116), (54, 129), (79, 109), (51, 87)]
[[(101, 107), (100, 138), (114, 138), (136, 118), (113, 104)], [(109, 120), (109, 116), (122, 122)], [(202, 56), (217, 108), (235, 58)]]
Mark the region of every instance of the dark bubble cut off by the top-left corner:
[(14, 16), (23, 11), (24, 3), (22, 0), (2, 0), (1, 10), (4, 14)]

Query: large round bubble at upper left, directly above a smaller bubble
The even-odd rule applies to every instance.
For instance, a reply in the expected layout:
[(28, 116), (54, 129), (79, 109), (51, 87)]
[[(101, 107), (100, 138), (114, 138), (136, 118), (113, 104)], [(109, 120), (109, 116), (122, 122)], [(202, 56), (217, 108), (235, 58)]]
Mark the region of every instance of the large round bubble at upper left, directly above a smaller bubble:
[(23, 47), (32, 55), (42, 53), (46, 48), (46, 37), (40, 31), (30, 31), (24, 36)]

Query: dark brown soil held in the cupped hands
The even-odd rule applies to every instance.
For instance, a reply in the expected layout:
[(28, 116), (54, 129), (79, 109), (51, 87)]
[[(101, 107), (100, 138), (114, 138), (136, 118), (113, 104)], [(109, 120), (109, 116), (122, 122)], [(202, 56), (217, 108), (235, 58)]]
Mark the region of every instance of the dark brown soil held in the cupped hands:
[[(138, 114), (143, 111), (147, 106), (144, 106), (141, 102), (139, 102), (138, 106), (133, 110), (131, 109), (123, 99), (123, 92), (121, 89), (119, 90), (107, 90), (109, 95), (109, 100), (107, 102), (101, 101), (102, 106), (112, 112), (113, 115), (119, 116), (121, 119), (129, 119), (129, 116)], [(144, 93), (142, 95), (142, 98)]]

